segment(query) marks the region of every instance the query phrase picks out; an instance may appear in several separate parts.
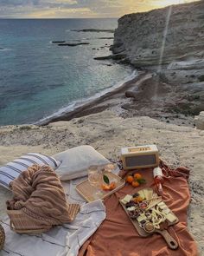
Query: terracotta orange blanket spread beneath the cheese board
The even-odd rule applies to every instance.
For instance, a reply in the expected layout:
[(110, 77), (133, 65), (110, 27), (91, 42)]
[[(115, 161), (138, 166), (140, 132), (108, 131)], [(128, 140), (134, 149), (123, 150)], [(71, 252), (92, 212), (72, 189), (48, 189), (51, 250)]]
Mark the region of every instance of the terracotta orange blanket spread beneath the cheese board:
[[(106, 219), (99, 229), (80, 248), (80, 256), (195, 256), (198, 255), (196, 243), (188, 233), (187, 209), (190, 201), (188, 190), (189, 171), (185, 167), (171, 170), (161, 161), (165, 182), (163, 200), (179, 219), (175, 226), (169, 226), (170, 235), (178, 241), (179, 248), (169, 249), (163, 237), (154, 233), (147, 238), (140, 237), (132, 225), (118, 199), (125, 194), (134, 194), (144, 187), (155, 188), (152, 169), (139, 170), (147, 183), (137, 188), (126, 184), (105, 200)], [(122, 172), (121, 175), (124, 175)]]

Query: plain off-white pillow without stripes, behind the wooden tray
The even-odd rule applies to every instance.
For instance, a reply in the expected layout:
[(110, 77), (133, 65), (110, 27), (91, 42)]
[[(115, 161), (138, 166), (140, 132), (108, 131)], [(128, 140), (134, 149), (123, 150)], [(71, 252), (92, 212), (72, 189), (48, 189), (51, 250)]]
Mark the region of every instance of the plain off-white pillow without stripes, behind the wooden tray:
[(69, 181), (87, 175), (87, 168), (92, 165), (110, 163), (94, 148), (83, 145), (54, 154), (54, 159), (61, 161), (60, 167), (55, 171), (61, 181)]

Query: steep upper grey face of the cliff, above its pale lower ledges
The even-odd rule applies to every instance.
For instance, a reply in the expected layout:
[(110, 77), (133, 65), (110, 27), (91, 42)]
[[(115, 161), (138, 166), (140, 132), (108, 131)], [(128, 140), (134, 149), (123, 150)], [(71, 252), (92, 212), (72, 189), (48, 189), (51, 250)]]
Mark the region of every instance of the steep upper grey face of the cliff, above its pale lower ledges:
[(176, 69), (175, 62), (188, 62), (187, 69), (189, 63), (203, 69), (204, 1), (122, 16), (112, 51), (135, 67), (171, 63)]

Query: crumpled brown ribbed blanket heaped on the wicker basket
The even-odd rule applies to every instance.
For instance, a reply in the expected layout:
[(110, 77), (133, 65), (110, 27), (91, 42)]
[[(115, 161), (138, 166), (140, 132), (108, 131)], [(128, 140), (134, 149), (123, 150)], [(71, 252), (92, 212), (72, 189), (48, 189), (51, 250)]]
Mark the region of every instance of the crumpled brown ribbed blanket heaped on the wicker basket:
[(23, 213), (42, 225), (61, 225), (74, 220), (80, 210), (68, 204), (64, 189), (51, 167), (34, 165), (10, 182), (13, 199), (7, 201), (8, 210), (22, 209)]

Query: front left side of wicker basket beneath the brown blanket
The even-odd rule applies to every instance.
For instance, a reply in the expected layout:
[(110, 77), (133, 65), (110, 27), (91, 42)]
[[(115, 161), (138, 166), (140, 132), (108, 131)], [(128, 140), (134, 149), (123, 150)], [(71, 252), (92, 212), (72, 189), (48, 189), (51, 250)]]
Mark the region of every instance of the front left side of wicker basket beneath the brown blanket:
[(43, 233), (52, 227), (51, 224), (41, 224), (41, 220), (29, 217), (22, 210), (7, 210), (7, 213), (10, 216), (10, 229), (16, 233)]

